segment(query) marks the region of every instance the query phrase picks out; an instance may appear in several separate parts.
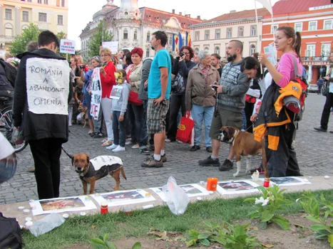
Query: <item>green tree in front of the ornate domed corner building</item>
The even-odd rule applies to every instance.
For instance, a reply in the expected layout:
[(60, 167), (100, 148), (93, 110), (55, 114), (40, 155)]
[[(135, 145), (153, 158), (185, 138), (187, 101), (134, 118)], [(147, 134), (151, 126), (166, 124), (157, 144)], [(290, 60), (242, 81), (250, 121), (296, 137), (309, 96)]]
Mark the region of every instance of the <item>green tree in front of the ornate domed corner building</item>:
[(93, 33), (90, 40), (88, 41), (88, 55), (93, 57), (99, 55), (99, 47), (102, 46), (102, 30), (103, 30), (103, 41), (112, 41), (113, 35), (110, 31), (107, 31), (104, 21), (98, 23), (97, 30)]

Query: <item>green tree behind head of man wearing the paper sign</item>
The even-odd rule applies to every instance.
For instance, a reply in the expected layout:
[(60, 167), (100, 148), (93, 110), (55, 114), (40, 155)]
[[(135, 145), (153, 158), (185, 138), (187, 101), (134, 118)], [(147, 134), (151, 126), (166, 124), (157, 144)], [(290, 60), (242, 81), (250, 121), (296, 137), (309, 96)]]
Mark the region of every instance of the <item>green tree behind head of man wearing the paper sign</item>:
[(16, 56), (24, 53), (30, 41), (38, 41), (39, 33), (41, 33), (39, 27), (30, 23), (29, 27), (24, 28), (21, 35), (16, 36), (15, 40), (11, 42), (11, 54)]

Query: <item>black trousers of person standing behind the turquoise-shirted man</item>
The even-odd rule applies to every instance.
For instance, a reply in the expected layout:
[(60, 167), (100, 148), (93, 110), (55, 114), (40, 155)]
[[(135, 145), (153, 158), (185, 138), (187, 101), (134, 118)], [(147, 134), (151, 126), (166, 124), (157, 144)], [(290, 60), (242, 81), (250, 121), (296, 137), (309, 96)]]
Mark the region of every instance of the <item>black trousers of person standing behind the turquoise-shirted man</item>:
[(185, 115), (185, 95), (171, 95), (170, 100), (170, 118), (168, 139), (175, 140), (178, 128), (178, 112), (182, 108), (182, 116)]

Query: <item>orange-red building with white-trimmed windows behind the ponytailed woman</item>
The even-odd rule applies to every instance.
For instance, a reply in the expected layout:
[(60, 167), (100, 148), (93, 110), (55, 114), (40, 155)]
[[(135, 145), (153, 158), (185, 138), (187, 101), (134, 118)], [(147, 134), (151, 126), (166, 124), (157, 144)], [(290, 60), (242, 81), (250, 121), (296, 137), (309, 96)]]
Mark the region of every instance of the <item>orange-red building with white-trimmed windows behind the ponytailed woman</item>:
[(272, 43), (280, 26), (291, 26), (299, 31), (302, 35), (300, 55), (307, 70), (307, 80), (317, 84), (332, 63), (329, 54), (333, 51), (333, 1), (281, 0), (273, 6), (273, 14), (274, 23), (270, 15), (262, 20), (262, 46)]

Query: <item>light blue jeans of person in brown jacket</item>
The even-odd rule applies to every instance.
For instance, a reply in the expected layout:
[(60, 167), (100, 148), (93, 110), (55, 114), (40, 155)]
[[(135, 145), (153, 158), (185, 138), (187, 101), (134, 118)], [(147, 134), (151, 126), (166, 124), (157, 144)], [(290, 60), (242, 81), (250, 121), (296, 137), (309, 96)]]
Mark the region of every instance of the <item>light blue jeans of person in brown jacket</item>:
[(201, 142), (201, 129), (203, 128), (203, 120), (205, 120), (205, 147), (212, 147), (212, 139), (209, 136), (210, 124), (212, 124), (212, 115), (214, 107), (204, 107), (203, 105), (192, 106), (192, 118), (195, 121), (194, 130), (194, 144), (200, 146)]

